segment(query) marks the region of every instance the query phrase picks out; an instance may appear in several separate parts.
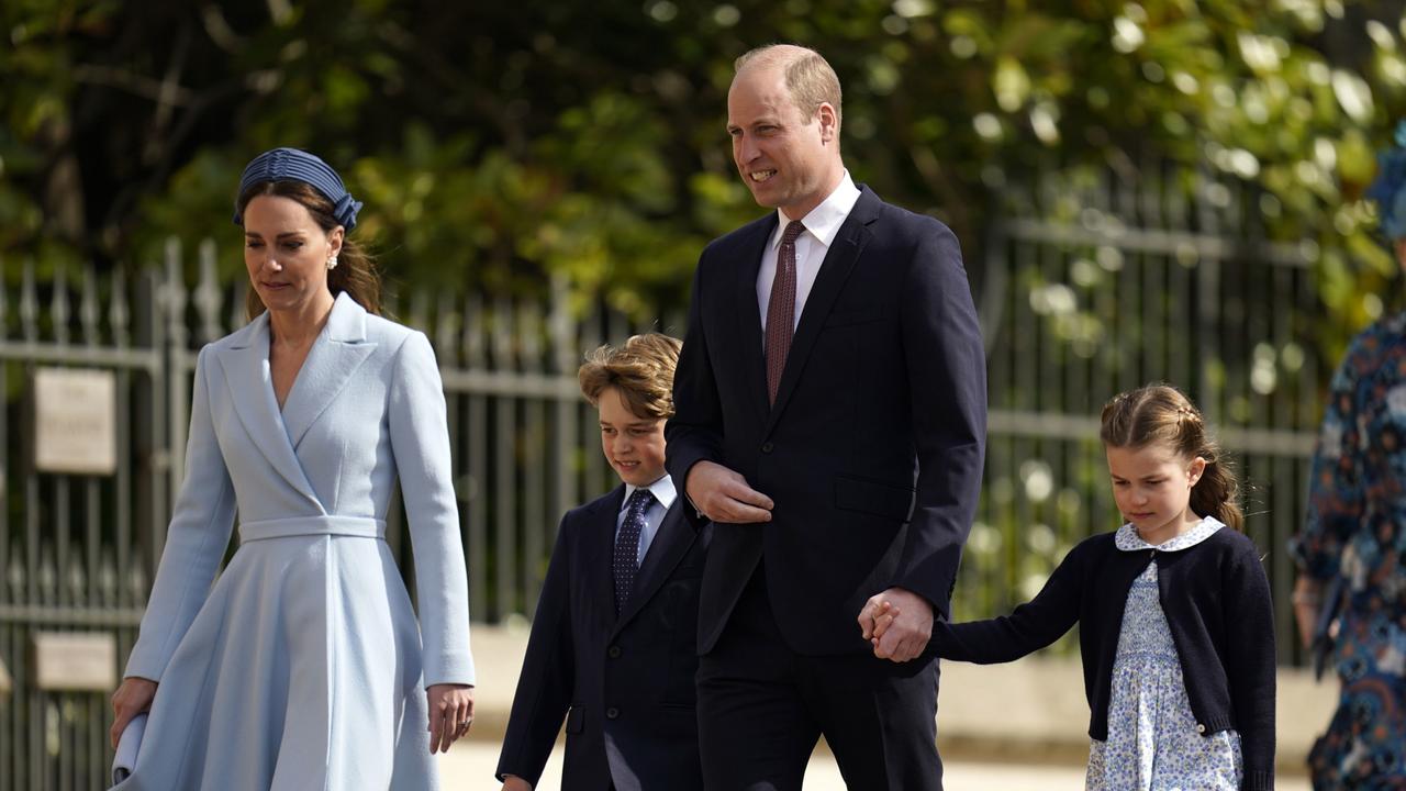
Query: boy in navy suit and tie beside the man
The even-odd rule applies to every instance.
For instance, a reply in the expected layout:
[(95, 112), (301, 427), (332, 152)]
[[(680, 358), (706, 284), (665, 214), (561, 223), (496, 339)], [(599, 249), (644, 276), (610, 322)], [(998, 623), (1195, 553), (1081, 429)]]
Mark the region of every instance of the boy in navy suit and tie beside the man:
[(621, 484), (557, 531), (498, 777), (530, 791), (562, 718), (562, 791), (702, 790), (693, 674), (711, 525), (695, 528), (664, 470), (679, 341), (636, 335), (578, 373)]

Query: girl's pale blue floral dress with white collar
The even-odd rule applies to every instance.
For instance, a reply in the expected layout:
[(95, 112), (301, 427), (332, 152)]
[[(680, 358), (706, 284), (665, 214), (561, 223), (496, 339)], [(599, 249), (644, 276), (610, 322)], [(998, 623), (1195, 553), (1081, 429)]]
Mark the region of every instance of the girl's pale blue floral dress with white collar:
[[(1206, 517), (1160, 545), (1123, 525), (1114, 545), (1123, 552), (1175, 552), (1201, 543), (1223, 528)], [(1088, 791), (1239, 791), (1244, 761), (1240, 735), (1197, 732), (1187, 698), (1181, 659), (1157, 595), (1157, 562), (1133, 581), (1114, 659), (1108, 702), (1108, 740), (1090, 740)]]

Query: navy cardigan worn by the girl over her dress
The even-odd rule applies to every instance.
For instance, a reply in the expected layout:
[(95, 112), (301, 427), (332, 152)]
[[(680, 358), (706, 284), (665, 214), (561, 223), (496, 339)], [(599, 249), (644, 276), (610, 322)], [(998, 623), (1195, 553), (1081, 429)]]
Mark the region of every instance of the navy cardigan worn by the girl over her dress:
[(991, 664), (1042, 649), (1080, 624), (1088, 735), (1108, 739), (1108, 700), (1128, 591), (1157, 557), (1161, 609), (1181, 659), (1197, 730), (1236, 729), (1246, 791), (1274, 788), (1274, 608), (1254, 543), (1230, 528), (1177, 552), (1125, 552), (1115, 533), (1080, 542), (1011, 615), (934, 624), (938, 656)]

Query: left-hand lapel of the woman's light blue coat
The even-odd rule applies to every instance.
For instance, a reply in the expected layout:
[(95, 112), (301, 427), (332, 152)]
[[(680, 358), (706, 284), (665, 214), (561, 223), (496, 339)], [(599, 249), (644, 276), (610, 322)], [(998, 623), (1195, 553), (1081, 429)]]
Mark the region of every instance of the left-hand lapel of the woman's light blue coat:
[(299, 494), (322, 511), (318, 495), (308, 483), (298, 456), (292, 452), (278, 403), (273, 397), (273, 379), (269, 369), (269, 314), (264, 312), (239, 332), (228, 348), (219, 350), (219, 367), (225, 372), (231, 401), (245, 432), (278, 472)]

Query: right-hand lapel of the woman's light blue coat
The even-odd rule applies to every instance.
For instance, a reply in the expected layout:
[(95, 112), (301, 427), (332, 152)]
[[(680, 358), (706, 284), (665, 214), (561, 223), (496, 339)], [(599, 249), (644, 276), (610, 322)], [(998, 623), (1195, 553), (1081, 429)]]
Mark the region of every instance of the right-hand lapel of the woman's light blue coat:
[(366, 310), (343, 291), (332, 305), (322, 335), (308, 350), (283, 408), (294, 450), (373, 350), (375, 343), (366, 341)]

